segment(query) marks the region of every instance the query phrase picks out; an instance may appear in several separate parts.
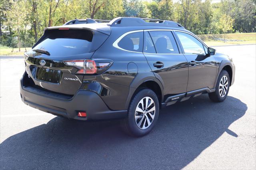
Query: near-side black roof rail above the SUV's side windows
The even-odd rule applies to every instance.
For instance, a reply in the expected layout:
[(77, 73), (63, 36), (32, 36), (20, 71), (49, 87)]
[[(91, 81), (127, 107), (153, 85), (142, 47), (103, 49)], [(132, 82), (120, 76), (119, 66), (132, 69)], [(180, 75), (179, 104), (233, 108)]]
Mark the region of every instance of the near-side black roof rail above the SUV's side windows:
[[(155, 21), (146, 22), (145, 20)], [(172, 27), (172, 28), (183, 28), (184, 27), (177, 22), (168, 20), (157, 20), (150, 18), (135, 18), (135, 17), (118, 17), (114, 18), (108, 23), (108, 26), (112, 27), (128, 27), (128, 26), (162, 26), (162, 27)]]

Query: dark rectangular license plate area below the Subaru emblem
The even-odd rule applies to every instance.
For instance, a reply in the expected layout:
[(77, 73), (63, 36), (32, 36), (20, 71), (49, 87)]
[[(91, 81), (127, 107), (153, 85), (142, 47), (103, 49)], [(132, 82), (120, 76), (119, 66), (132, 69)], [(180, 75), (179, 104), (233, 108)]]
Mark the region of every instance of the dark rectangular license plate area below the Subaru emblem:
[(62, 72), (60, 70), (36, 68), (36, 79), (40, 81), (60, 84), (61, 75)]

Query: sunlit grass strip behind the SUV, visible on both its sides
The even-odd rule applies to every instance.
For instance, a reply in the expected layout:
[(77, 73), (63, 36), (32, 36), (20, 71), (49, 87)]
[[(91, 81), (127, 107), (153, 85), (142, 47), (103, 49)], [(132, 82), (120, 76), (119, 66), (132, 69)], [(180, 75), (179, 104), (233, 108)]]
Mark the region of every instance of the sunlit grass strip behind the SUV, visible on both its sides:
[[(225, 38), (227, 40), (243, 40), (238, 42), (223, 42), (216, 41), (214, 38), (224, 38), (224, 34), (204, 34), (198, 35), (198, 37), (203, 40), (206, 45), (214, 46), (214, 45), (235, 45), (235, 44), (256, 44), (256, 33), (234, 33), (234, 34), (226, 34)], [(0, 45), (0, 55), (23, 55), (25, 50), (30, 50), (31, 47), (28, 48), (10, 48), (6, 46)]]

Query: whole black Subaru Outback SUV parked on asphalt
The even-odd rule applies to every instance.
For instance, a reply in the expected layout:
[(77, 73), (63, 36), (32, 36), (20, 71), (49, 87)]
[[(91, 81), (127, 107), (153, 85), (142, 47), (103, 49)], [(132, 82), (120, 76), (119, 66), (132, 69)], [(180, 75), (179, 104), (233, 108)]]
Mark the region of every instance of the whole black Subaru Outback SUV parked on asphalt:
[(235, 73), (232, 59), (180, 24), (142, 18), (45, 28), (24, 59), (26, 105), (83, 121), (122, 118), (135, 136), (150, 132), (159, 109), (177, 101), (202, 93), (224, 101)]

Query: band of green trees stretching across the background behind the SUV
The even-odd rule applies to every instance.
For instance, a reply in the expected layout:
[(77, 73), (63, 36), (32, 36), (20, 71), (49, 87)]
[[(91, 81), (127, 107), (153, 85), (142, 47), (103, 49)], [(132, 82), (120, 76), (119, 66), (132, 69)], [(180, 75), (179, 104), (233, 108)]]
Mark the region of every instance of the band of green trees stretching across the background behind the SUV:
[(0, 44), (31, 47), (45, 27), (76, 18), (173, 20), (195, 34), (255, 32), (255, 3), (256, 0), (0, 0)]

